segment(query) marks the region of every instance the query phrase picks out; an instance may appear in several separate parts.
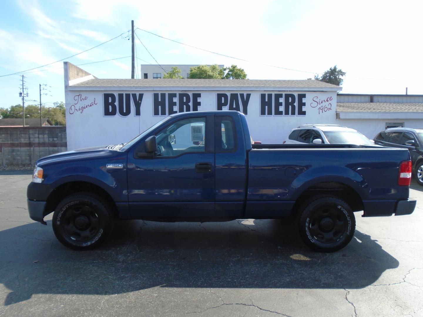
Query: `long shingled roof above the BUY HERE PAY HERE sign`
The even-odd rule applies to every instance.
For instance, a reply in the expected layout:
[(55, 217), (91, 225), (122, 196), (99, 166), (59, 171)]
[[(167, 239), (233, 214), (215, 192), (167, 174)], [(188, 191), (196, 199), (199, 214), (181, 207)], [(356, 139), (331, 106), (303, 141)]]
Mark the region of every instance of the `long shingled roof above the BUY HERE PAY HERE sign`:
[(336, 85), (313, 79), (89, 79), (70, 87), (316, 87), (334, 88)]

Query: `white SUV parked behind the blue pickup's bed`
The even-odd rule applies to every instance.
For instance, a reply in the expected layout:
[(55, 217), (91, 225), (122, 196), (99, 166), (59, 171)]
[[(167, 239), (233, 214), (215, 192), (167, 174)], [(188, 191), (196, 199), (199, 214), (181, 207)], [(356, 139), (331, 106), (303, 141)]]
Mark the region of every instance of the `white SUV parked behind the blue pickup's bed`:
[(357, 130), (338, 124), (306, 124), (294, 128), (283, 143), (334, 143), (334, 144), (365, 144), (374, 143)]

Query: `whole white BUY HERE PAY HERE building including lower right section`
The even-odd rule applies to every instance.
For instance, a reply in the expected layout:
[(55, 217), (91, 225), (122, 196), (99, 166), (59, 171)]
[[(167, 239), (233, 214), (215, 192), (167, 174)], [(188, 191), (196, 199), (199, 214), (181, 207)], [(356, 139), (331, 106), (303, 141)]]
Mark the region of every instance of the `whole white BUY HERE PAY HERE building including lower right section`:
[(64, 62), (68, 149), (126, 142), (167, 115), (237, 110), (251, 135), (281, 143), (302, 124), (331, 123), (369, 138), (390, 126), (423, 127), (423, 96), (337, 94), (316, 80), (98, 79)]

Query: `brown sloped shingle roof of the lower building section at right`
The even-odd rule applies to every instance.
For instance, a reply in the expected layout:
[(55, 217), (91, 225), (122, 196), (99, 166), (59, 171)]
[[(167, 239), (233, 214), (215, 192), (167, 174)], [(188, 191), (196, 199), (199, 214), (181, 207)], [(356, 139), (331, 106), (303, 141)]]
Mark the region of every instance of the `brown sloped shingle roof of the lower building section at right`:
[(423, 104), (388, 102), (338, 102), (336, 112), (423, 112)]

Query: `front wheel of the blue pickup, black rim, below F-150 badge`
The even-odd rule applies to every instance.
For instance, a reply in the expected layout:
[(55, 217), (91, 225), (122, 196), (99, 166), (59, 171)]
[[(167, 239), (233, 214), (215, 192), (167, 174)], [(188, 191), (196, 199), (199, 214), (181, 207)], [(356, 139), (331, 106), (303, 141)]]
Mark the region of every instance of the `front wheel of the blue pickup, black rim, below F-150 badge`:
[(107, 203), (93, 194), (78, 193), (63, 199), (53, 214), (53, 231), (68, 248), (88, 250), (99, 246), (112, 229)]

